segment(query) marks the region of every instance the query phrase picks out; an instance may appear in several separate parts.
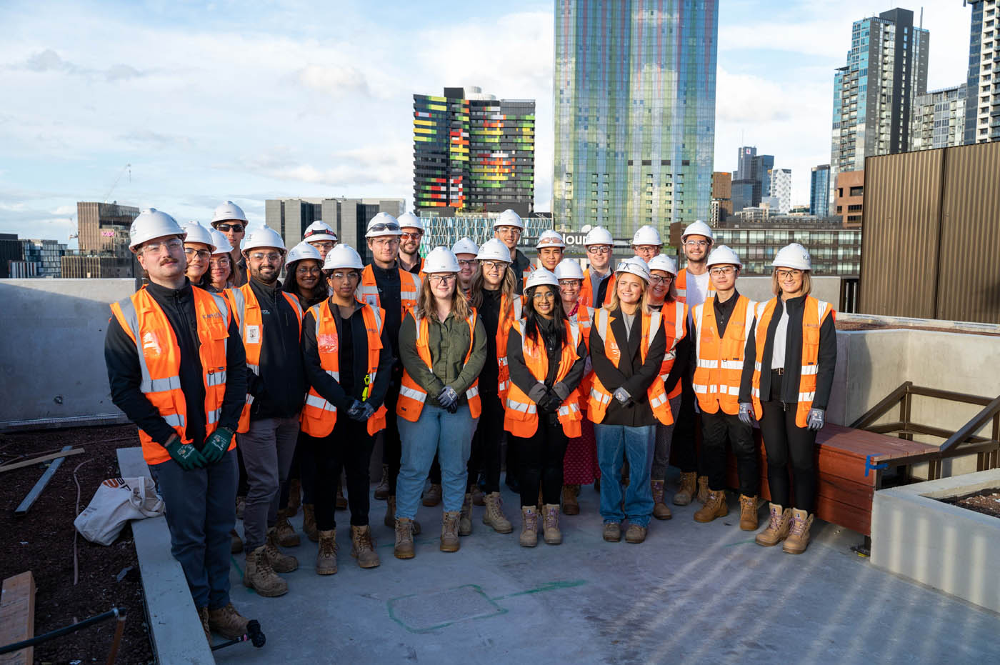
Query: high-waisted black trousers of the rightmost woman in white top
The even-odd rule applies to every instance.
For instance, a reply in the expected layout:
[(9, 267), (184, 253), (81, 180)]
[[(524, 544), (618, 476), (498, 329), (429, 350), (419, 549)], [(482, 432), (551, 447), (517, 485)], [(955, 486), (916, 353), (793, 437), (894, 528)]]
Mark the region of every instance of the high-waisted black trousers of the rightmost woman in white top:
[[(760, 419), (760, 433), (767, 451), (771, 502), (812, 513), (816, 509), (816, 432), (795, 424), (798, 403), (781, 402), (781, 379), (780, 374), (771, 373), (771, 399), (761, 402), (764, 414)], [(795, 483), (794, 503), (789, 496), (789, 458)]]

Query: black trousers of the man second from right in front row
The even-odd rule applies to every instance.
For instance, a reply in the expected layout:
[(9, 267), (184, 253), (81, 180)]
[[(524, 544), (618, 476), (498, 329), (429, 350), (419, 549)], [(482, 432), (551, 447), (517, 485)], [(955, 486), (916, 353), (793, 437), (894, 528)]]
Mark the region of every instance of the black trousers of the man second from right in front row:
[(701, 412), (701, 462), (711, 490), (726, 488), (726, 439), (733, 446), (740, 494), (757, 496), (760, 492), (760, 469), (753, 440), (753, 428), (740, 422), (737, 415)]

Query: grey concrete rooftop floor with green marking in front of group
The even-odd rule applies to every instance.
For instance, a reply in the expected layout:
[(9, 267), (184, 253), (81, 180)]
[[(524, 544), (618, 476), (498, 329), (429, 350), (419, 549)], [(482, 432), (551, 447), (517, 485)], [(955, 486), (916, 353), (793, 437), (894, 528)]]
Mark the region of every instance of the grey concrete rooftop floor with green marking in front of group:
[[(668, 486), (670, 481), (668, 481)], [(393, 557), (385, 502), (371, 523), (382, 565), (350, 556), (348, 512), (338, 511), (339, 572), (320, 577), (316, 545), (284, 575), (289, 592), (262, 598), (242, 585), (234, 556), (233, 603), (256, 618), (262, 649), (239, 644), (219, 662), (262, 663), (990, 663), (1000, 661), (1000, 616), (873, 568), (850, 551), (861, 537), (817, 522), (800, 556), (762, 548), (738, 527), (738, 507), (707, 525), (695, 506), (653, 520), (641, 545), (601, 539), (597, 493), (563, 516), (563, 544), (518, 546), (517, 498), (504, 488), (514, 533), (501, 535), (474, 508), (458, 553), (438, 550), (440, 506), (421, 506), (417, 556)], [(763, 519), (764, 509), (761, 509)], [(293, 518), (301, 527), (302, 514)], [(242, 523), (237, 523), (242, 528)], [(762, 521), (763, 528), (763, 521)], [(218, 641), (220, 638), (216, 637)]]

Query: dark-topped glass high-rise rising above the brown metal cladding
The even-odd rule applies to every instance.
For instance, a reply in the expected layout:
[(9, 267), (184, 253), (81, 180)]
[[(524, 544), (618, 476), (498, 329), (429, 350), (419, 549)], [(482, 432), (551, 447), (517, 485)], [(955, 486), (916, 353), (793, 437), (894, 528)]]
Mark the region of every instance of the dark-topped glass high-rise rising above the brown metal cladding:
[(833, 79), (830, 181), (865, 158), (906, 152), (917, 96), (927, 92), (930, 33), (913, 12), (890, 9), (855, 21), (847, 62)]

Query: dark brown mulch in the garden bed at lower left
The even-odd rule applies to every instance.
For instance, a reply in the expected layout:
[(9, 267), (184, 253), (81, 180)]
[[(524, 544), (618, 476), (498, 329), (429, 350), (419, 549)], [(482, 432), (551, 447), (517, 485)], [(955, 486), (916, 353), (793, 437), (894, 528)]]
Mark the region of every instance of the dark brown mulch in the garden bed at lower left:
[[(76, 472), (83, 510), (103, 480), (120, 475), (115, 451), (139, 445), (136, 428), (119, 425), (0, 434), (0, 463), (31, 459), (67, 445), (86, 452), (63, 460), (24, 517), (15, 517), (14, 509), (51, 462), (0, 474), (0, 578), (26, 570), (34, 575), (35, 635), (102, 614), (114, 606), (125, 607), (128, 616), (116, 662), (152, 663), (130, 526), (107, 547), (77, 538), (79, 581), (73, 584), (73, 520), (77, 514), (73, 471), (83, 464)], [(115, 620), (110, 619), (57, 637), (35, 647), (35, 662), (105, 662), (114, 630)]]

